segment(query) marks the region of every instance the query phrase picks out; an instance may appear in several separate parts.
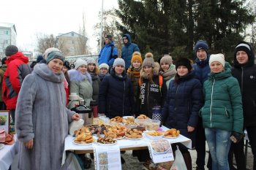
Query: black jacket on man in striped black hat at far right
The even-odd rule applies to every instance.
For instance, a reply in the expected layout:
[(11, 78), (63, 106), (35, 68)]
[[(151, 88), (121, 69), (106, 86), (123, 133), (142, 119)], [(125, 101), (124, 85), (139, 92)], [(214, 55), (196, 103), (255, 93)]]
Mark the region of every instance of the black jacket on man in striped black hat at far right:
[[(253, 50), (251, 50), (253, 51)], [(233, 77), (239, 82), (244, 109), (244, 126), (256, 126), (256, 65), (255, 55), (249, 55), (249, 61), (241, 66), (234, 57)]]

